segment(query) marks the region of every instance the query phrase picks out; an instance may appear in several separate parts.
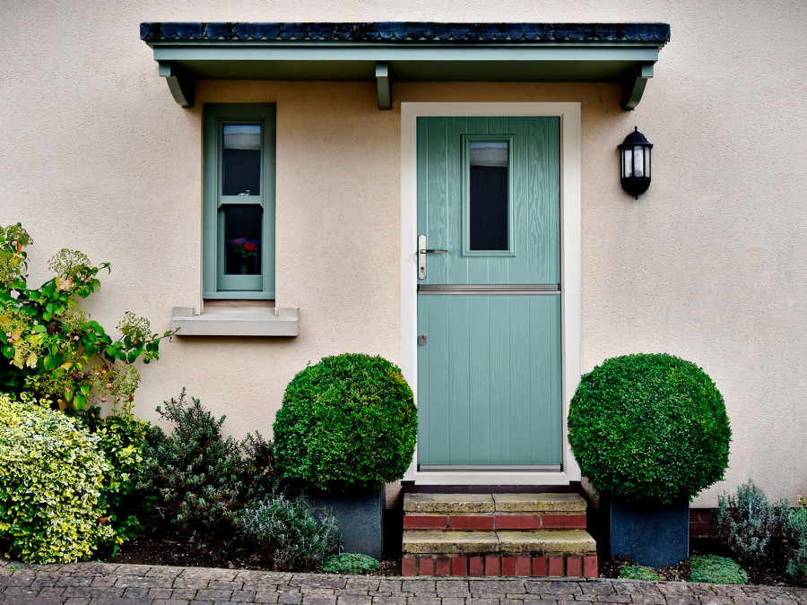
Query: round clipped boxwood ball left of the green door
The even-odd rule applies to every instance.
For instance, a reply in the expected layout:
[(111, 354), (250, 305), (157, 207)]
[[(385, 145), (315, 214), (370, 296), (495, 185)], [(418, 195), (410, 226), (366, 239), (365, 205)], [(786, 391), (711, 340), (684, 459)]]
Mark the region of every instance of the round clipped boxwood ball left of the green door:
[(323, 491), (401, 479), (418, 431), (412, 389), (381, 357), (326, 357), (291, 380), (274, 420), (283, 476)]

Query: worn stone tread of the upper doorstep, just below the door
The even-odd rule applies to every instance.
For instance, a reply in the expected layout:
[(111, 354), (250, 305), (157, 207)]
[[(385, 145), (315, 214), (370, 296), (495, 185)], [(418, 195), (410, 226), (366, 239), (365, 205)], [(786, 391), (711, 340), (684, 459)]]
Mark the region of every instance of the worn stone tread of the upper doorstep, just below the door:
[(406, 513), (586, 513), (579, 494), (404, 494)]

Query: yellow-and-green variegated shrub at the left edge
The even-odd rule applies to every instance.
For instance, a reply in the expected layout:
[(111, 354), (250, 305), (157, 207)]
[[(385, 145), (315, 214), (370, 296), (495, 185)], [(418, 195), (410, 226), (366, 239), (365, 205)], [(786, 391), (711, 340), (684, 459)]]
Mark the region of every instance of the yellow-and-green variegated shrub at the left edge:
[(0, 540), (25, 562), (89, 557), (112, 535), (100, 523), (99, 438), (61, 412), (0, 394)]

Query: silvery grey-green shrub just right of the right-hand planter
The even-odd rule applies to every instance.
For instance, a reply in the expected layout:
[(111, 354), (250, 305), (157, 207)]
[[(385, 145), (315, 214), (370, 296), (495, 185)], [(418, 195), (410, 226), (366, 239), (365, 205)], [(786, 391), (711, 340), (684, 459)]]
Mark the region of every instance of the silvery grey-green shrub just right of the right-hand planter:
[(785, 501), (776, 504), (751, 480), (737, 488), (736, 495), (717, 497), (716, 525), (720, 540), (745, 563), (773, 557), (781, 540)]

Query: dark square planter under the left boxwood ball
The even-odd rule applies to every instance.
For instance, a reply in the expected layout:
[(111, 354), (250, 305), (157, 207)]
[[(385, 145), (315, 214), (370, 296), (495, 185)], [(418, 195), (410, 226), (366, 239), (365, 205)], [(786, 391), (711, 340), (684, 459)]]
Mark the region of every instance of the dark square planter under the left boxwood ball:
[(383, 531), (381, 514), (384, 510), (384, 489), (378, 491), (348, 491), (330, 494), (303, 489), (303, 500), (315, 509), (330, 508), (342, 534), (344, 552), (358, 552), (381, 560)]

